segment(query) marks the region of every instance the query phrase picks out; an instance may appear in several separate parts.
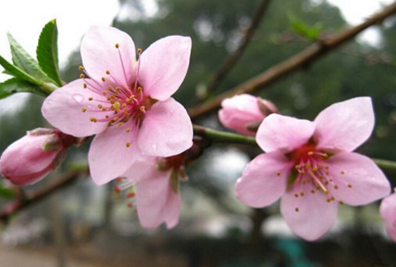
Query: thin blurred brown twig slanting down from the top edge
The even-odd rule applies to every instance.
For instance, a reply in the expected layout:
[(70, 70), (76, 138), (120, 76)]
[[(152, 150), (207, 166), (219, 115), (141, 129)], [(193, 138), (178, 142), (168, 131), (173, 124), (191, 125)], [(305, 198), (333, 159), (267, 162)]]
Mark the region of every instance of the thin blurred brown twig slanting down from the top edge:
[(218, 71), (213, 74), (213, 76), (209, 80), (206, 93), (211, 93), (216, 90), (220, 82), (223, 81), (223, 79), (227, 76), (228, 72), (230, 72), (232, 67), (234, 67), (235, 63), (237, 63), (237, 60), (242, 56), (245, 48), (248, 46), (249, 42), (253, 38), (254, 32), (260, 25), (261, 20), (263, 20), (265, 11), (267, 11), (270, 1), (271, 0), (263, 0), (260, 2), (260, 4), (258, 4), (256, 10), (253, 13), (251, 24), (246, 30), (237, 50), (235, 50), (234, 53), (232, 53), (230, 57), (225, 60), (225, 62), (223, 63), (223, 65), (221, 65)]

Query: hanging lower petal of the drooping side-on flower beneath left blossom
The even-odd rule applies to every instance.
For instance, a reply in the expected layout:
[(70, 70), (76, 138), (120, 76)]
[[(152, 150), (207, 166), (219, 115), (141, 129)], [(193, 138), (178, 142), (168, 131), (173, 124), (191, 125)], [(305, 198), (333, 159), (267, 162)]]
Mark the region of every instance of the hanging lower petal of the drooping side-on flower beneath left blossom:
[(176, 226), (180, 216), (180, 193), (172, 190), (171, 172), (152, 170), (152, 175), (138, 183), (136, 206), (140, 224), (156, 228), (165, 222), (168, 228)]

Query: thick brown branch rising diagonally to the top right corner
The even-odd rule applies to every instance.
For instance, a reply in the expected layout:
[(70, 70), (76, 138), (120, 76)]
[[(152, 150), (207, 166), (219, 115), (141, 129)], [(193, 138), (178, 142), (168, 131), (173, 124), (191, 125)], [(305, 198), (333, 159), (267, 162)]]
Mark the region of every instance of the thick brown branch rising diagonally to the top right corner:
[(282, 78), (291, 72), (299, 70), (302, 67), (306, 67), (310, 63), (313, 63), (315, 60), (324, 56), (329, 51), (356, 37), (357, 34), (366, 30), (368, 27), (382, 23), (385, 18), (388, 18), (394, 13), (396, 13), (396, 2), (385, 7), (383, 11), (373, 15), (362, 24), (352, 27), (348, 30), (344, 30), (339, 34), (336, 34), (334, 37), (317, 41), (315, 44), (308, 46), (308, 48), (305, 48), (305, 50), (301, 51), (295, 56), (284, 60), (282, 63), (279, 63), (274, 67), (271, 67), (267, 71), (258, 74), (256, 77), (249, 79), (243, 84), (239, 84), (239, 86), (236, 86), (234, 89), (231, 89), (225, 93), (221, 93), (219, 96), (207, 103), (190, 108), (188, 113), (191, 119), (197, 119), (197, 117), (216, 110), (216, 108), (220, 106), (221, 101), (225, 98), (235, 96), (239, 93), (251, 93), (252, 91), (263, 88), (263, 86), (272, 84), (273, 82), (277, 81), (277, 79)]

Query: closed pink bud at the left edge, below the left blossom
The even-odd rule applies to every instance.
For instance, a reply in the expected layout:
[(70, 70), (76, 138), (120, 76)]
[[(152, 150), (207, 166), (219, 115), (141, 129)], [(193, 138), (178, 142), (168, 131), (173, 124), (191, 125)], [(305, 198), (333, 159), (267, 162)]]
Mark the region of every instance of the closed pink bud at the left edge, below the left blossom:
[(65, 146), (52, 129), (36, 129), (12, 143), (0, 158), (1, 175), (14, 185), (40, 181), (55, 169)]

